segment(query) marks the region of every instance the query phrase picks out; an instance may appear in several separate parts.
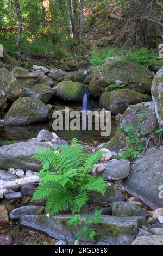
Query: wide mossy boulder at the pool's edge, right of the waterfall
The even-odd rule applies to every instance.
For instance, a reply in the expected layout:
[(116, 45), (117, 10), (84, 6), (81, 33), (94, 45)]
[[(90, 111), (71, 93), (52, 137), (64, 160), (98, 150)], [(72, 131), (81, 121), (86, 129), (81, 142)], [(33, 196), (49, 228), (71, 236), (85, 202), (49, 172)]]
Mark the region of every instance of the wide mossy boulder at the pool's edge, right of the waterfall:
[(147, 94), (135, 92), (130, 89), (117, 89), (112, 92), (102, 94), (99, 103), (105, 109), (111, 111), (111, 114), (122, 114), (129, 105), (135, 105), (144, 101), (149, 101)]

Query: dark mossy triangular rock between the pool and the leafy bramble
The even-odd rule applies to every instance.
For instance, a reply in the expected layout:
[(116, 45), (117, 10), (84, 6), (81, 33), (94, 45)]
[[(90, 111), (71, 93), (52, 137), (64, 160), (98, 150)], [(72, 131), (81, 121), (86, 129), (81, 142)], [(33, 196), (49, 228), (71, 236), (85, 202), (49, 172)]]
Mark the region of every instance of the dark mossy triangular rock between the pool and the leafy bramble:
[(118, 153), (120, 149), (125, 147), (126, 138), (127, 136), (122, 132), (121, 128), (117, 127), (115, 135), (110, 139), (110, 141), (106, 142), (102, 148)]

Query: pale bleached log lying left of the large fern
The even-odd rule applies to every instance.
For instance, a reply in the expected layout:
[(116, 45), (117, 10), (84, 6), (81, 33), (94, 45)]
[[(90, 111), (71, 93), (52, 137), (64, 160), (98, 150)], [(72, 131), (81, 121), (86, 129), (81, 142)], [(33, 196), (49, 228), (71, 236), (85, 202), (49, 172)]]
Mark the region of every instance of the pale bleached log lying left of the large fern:
[(0, 180), (0, 190), (4, 190), (5, 188), (11, 188), (16, 186), (23, 186), (27, 184), (34, 184), (40, 181), (39, 176), (29, 176), (16, 180)]

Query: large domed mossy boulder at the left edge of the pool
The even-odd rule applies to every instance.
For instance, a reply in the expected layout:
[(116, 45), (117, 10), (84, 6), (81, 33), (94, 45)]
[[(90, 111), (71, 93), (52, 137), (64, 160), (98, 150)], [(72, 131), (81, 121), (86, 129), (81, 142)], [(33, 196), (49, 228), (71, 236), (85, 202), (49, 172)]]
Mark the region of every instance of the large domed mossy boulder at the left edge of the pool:
[(48, 119), (48, 107), (29, 97), (17, 99), (5, 115), (4, 125), (29, 125)]

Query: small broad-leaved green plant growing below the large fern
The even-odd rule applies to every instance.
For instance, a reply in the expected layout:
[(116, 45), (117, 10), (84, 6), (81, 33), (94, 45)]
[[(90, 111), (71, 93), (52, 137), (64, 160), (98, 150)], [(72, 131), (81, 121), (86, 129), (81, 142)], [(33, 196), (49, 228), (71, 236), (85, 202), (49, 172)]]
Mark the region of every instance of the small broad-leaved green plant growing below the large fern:
[(102, 219), (99, 217), (101, 214), (102, 210), (96, 210), (93, 215), (87, 215), (85, 218), (77, 214), (68, 221), (68, 225), (77, 227), (80, 223), (84, 223), (82, 227), (79, 227), (76, 237), (81, 237), (84, 240), (95, 240), (95, 237), (98, 235), (96, 225), (102, 222)]

